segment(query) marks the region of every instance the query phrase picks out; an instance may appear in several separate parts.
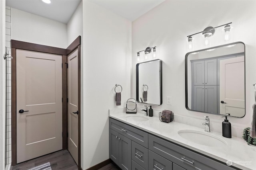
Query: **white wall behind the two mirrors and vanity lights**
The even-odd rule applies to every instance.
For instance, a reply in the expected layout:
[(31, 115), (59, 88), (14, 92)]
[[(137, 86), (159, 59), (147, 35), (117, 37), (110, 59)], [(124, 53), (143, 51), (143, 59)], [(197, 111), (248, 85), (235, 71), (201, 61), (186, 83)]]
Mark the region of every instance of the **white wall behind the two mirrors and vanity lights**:
[[(246, 115), (229, 118), (232, 135), (242, 137), (242, 129), (250, 127), (254, 87), (256, 82), (256, 2), (255, 1), (178, 1), (167, 0), (132, 22), (132, 96), (136, 97), (136, 52), (157, 46), (158, 57), (163, 61), (163, 104), (153, 109), (170, 109), (186, 119), (204, 120), (205, 113), (185, 108), (185, 55), (186, 36), (233, 22), (234, 41), (246, 45)], [(215, 35), (214, 35), (215, 36)], [(218, 37), (216, 32), (216, 37)], [(219, 40), (214, 46), (221, 45)], [(166, 104), (172, 96), (172, 105)], [(209, 115), (211, 130), (222, 133), (223, 117)], [(198, 123), (199, 127), (202, 127)], [(202, 127), (203, 128), (203, 127)]]

